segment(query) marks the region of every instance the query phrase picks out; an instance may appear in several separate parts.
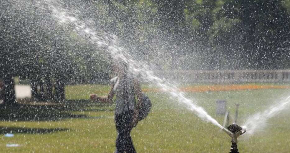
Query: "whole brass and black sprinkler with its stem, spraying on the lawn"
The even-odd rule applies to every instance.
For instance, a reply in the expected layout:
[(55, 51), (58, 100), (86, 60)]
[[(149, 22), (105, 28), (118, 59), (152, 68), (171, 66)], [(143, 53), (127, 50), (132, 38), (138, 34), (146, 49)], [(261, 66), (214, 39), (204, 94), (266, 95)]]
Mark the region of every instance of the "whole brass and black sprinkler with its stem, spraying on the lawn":
[(237, 124), (233, 123), (228, 126), (228, 128), (223, 128), (223, 131), (226, 132), (232, 138), (232, 146), (230, 153), (239, 153), (237, 146), (237, 137), (246, 132), (246, 128), (242, 128)]

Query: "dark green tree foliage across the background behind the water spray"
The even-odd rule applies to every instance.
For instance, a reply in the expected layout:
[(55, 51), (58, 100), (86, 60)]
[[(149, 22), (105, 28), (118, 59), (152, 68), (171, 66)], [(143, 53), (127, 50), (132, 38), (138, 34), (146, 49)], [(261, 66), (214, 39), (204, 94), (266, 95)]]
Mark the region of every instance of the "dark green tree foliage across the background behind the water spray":
[[(22, 2), (22, 1), (21, 1)], [(108, 75), (109, 57), (34, 0), (0, 5), (1, 68), (15, 75)], [(98, 33), (165, 69), (289, 68), (289, 0), (57, 1)], [(156, 51), (158, 50), (158, 51)], [(24, 71), (25, 70), (25, 71)], [(68, 80), (70, 81), (70, 80)], [(72, 81), (72, 80), (71, 80)]]

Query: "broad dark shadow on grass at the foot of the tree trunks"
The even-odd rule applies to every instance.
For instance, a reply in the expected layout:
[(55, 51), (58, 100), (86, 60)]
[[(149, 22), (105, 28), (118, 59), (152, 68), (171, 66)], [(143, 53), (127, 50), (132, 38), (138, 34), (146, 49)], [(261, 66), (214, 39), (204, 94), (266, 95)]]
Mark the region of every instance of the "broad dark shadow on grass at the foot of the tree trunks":
[(88, 100), (67, 100), (58, 103), (18, 103), (14, 106), (0, 105), (0, 121), (57, 121), (71, 118), (90, 118), (87, 115), (71, 112), (113, 111), (111, 106), (112, 104), (93, 103)]

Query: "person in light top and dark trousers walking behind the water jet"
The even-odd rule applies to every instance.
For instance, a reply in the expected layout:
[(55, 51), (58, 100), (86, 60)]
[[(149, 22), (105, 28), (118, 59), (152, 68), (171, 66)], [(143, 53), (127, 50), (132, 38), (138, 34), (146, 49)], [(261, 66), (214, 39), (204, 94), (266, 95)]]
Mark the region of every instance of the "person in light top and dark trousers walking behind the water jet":
[[(138, 123), (138, 106), (141, 105), (141, 90), (137, 81), (133, 81), (126, 70), (127, 64), (124, 62), (115, 62), (112, 64), (113, 71), (117, 77), (111, 79), (113, 85), (106, 97), (100, 97), (96, 94), (90, 95), (90, 99), (109, 103), (116, 96), (115, 125), (118, 132), (116, 139), (116, 153), (135, 153), (131, 130)], [(136, 104), (135, 95), (138, 99)]]

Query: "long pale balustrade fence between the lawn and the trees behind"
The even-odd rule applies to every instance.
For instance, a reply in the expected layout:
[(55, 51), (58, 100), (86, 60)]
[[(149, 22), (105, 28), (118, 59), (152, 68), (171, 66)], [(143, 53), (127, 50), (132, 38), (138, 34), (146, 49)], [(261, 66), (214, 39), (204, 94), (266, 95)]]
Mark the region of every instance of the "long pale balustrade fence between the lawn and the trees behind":
[(170, 70), (160, 76), (180, 83), (290, 83), (290, 70)]

